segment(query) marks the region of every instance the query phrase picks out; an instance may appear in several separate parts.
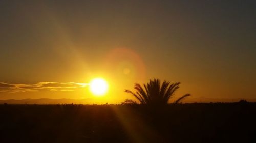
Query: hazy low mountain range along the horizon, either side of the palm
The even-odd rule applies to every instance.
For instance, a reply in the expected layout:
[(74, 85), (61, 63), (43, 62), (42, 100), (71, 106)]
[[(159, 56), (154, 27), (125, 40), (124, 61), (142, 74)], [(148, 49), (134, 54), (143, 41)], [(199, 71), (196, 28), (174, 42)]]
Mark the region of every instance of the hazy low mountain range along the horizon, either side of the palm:
[[(249, 102), (256, 102), (256, 99), (245, 99), (245, 98), (186, 98), (183, 103), (209, 103), (209, 102), (238, 102), (240, 100), (246, 100)], [(0, 100), (0, 104), (93, 104), (97, 103), (96, 100), (91, 98), (86, 99), (49, 99), (49, 98), (40, 98), (40, 99), (8, 99)]]

